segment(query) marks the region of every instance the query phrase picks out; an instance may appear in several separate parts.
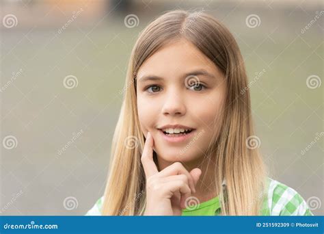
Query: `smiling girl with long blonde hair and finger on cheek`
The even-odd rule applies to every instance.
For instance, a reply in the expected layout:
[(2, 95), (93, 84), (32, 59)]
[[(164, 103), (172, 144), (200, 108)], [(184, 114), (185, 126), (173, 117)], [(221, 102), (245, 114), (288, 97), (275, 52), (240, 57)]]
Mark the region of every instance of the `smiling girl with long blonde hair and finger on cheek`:
[(202, 12), (167, 12), (141, 32), (111, 156), (105, 194), (87, 215), (312, 215), (267, 177), (241, 52)]

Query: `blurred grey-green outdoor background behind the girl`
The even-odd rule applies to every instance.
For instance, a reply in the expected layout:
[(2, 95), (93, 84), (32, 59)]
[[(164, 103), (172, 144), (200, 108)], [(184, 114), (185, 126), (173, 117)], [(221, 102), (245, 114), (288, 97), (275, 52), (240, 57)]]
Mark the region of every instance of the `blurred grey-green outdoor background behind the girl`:
[(273, 179), (323, 215), (321, 1), (1, 0), (1, 215), (83, 215), (103, 196), (139, 32), (196, 10), (237, 39)]

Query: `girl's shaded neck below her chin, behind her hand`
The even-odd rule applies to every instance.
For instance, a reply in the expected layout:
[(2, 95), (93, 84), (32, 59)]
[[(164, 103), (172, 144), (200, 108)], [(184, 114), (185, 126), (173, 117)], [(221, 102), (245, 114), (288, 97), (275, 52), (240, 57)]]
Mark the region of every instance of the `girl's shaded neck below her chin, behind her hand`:
[[(170, 166), (171, 164), (174, 164), (174, 162), (176, 161), (165, 161), (164, 159), (159, 157), (159, 155), (157, 155), (159, 171), (167, 168), (167, 166)], [(218, 192), (215, 186), (215, 161), (213, 160), (213, 157), (202, 156), (199, 159), (181, 163), (188, 172), (190, 172), (194, 168), (200, 168), (200, 170), (202, 170), (200, 179), (195, 186), (196, 192), (191, 196), (198, 198), (198, 200), (200, 200), (200, 203), (218, 196)]]

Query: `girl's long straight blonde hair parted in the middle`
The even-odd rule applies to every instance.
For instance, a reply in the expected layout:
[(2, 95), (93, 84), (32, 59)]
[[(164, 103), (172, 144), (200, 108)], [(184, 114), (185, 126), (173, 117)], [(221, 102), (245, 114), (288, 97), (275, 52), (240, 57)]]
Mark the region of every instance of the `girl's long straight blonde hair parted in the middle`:
[(203, 12), (183, 10), (156, 18), (141, 31), (133, 47), (113, 135), (102, 214), (137, 216), (144, 212), (146, 177), (141, 153), (145, 138), (137, 114), (136, 75), (148, 57), (179, 39), (193, 43), (225, 77), (224, 118), (207, 149), (217, 165), (215, 186), (220, 191), (221, 215), (258, 215), (267, 173), (258, 147), (249, 145), (256, 139), (243, 57), (234, 37), (219, 21)]

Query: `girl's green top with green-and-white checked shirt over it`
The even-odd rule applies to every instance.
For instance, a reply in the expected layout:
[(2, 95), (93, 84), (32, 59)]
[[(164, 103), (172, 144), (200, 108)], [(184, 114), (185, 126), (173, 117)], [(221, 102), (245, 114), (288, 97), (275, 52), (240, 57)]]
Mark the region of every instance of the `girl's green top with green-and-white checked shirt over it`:
[[(262, 202), (261, 216), (312, 216), (306, 201), (295, 190), (283, 183), (268, 178), (267, 196)], [(86, 216), (100, 216), (103, 205), (101, 197)], [(189, 204), (190, 205), (190, 204)], [(221, 205), (218, 196), (204, 203), (183, 209), (182, 216), (219, 216)]]

